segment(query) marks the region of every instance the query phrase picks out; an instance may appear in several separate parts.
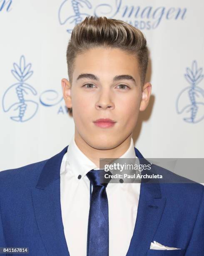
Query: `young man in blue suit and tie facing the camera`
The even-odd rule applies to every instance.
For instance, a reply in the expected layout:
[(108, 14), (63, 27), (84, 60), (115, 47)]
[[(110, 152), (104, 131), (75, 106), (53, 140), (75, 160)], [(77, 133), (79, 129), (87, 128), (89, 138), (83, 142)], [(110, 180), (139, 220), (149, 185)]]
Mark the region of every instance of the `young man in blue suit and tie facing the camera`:
[(147, 162), (132, 140), (151, 93), (147, 64), (137, 28), (92, 16), (75, 26), (62, 79), (75, 135), (50, 159), (0, 172), (0, 247), (32, 256), (204, 255), (201, 184), (99, 179), (100, 158)]

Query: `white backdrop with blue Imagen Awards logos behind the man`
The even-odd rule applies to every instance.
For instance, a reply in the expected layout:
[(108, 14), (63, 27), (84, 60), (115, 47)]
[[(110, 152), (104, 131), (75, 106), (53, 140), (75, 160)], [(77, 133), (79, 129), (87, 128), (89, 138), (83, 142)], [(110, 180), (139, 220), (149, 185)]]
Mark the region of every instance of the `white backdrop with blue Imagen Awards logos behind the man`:
[(70, 143), (66, 48), (86, 16), (124, 20), (147, 38), (152, 96), (134, 145), (147, 158), (204, 158), (204, 1), (0, 0), (0, 171)]

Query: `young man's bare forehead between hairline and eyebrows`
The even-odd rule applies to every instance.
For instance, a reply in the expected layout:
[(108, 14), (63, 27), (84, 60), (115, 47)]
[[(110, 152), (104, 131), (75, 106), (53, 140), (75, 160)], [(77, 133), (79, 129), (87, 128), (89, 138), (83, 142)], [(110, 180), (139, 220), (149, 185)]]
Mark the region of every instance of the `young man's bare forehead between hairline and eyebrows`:
[(95, 47), (77, 54), (74, 62), (73, 80), (80, 73), (93, 73), (98, 77), (112, 78), (129, 74), (139, 79), (137, 57), (118, 48)]

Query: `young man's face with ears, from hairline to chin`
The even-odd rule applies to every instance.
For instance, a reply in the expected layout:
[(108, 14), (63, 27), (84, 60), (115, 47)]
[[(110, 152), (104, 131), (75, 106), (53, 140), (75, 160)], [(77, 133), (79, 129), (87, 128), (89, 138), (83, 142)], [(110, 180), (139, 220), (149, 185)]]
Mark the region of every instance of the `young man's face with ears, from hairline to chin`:
[[(151, 92), (151, 84), (149, 87)], [(70, 83), (64, 82), (63, 95), (67, 108), (72, 107), (75, 136), (97, 149), (117, 147), (132, 134), (139, 110), (146, 108), (150, 95), (143, 95), (136, 57), (104, 47), (77, 55), (69, 88)], [(146, 105), (141, 104), (143, 97)], [(94, 121), (100, 118), (115, 123), (106, 128), (97, 126)]]

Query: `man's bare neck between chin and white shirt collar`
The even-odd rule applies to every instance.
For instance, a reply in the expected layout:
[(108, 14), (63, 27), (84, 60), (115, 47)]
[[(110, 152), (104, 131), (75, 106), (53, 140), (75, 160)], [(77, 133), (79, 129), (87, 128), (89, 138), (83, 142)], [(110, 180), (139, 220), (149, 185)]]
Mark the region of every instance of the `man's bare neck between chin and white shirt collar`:
[(87, 156), (95, 165), (100, 168), (100, 158), (119, 158), (130, 146), (132, 133), (118, 146), (109, 149), (98, 149), (90, 146), (75, 129), (75, 143), (77, 147)]

